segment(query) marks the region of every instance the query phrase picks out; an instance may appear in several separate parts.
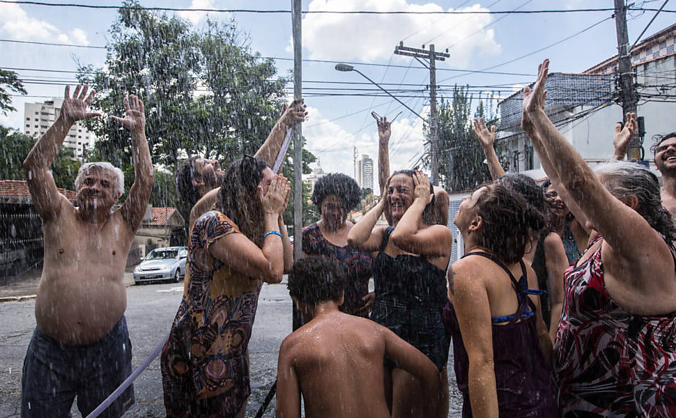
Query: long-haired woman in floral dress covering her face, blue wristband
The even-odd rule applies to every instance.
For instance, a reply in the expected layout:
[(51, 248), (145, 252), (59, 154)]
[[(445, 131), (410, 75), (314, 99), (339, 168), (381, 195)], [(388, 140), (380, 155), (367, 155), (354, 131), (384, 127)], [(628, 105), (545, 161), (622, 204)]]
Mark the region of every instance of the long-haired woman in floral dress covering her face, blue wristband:
[(282, 213), (289, 182), (244, 157), (225, 173), (217, 206), (192, 227), (187, 293), (162, 350), (167, 417), (244, 417), (248, 344), (263, 281), (291, 268)]

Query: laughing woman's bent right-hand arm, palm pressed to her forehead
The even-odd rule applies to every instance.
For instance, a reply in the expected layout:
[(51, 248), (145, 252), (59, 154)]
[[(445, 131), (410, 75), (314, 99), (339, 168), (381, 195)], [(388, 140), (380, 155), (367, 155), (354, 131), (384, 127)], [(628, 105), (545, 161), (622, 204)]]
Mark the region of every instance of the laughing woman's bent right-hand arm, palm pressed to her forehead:
[(429, 178), (421, 171), (416, 171), (413, 175), (413, 185), (415, 185), (413, 203), (394, 228), (392, 242), (397, 247), (413, 254), (439, 257), (450, 255), (453, 243), (453, 234), (450, 229), (443, 225), (418, 229), (422, 212), (433, 196), (429, 192)]

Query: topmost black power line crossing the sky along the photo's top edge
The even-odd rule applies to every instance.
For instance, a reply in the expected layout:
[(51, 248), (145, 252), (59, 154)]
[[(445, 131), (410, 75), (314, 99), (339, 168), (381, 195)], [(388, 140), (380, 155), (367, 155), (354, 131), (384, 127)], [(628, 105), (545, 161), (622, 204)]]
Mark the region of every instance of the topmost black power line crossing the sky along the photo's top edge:
[[(121, 6), (121, 5), (94, 5), (82, 3), (48, 3), (47, 1), (29, 0), (0, 0), (0, 3), (26, 4), (33, 6), (54, 6), (89, 9), (130, 9), (151, 10), (164, 12), (213, 12), (213, 13), (286, 13), (291, 10), (256, 10), (256, 9), (224, 9), (224, 8), (178, 8), (178, 7), (146, 7), (146, 6)], [(577, 9), (544, 9), (544, 10), (435, 10), (435, 11), (411, 11), (411, 10), (304, 10), (303, 15), (502, 15), (502, 14), (541, 14), (541, 13), (591, 13), (608, 12), (614, 8), (577, 8)], [(654, 8), (627, 8), (631, 11), (656, 11)], [(676, 10), (662, 10), (663, 13), (676, 13)]]

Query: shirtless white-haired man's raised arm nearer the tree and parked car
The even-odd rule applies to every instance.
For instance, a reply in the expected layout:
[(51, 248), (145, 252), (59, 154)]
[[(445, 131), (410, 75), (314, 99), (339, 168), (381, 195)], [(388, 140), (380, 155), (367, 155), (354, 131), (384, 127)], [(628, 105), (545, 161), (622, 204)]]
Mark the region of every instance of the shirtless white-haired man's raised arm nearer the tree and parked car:
[(124, 100), (125, 117), (110, 116), (132, 134), (132, 158), (134, 161), (134, 184), (122, 205), (121, 214), (132, 231), (136, 231), (146, 213), (153, 191), (153, 162), (146, 141), (146, 114), (143, 102), (137, 95)]

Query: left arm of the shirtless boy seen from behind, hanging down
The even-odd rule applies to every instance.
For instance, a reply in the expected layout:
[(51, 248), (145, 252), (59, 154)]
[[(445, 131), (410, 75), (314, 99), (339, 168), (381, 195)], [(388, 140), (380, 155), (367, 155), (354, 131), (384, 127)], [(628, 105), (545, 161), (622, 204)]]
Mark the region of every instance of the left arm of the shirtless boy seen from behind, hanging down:
[(276, 418), (300, 418), (300, 383), (293, 367), (287, 339), (282, 341), (277, 362)]

